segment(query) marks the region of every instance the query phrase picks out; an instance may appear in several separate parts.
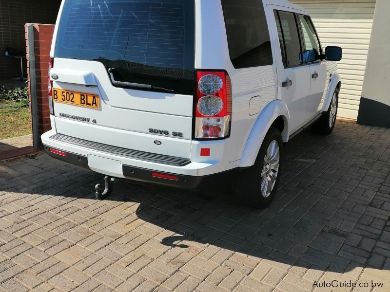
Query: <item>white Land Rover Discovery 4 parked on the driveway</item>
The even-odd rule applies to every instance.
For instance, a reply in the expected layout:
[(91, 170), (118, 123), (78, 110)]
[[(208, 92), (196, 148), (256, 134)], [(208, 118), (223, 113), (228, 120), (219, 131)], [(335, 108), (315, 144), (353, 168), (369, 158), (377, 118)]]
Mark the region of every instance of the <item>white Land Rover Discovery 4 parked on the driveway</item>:
[(126, 178), (264, 206), (283, 143), (331, 133), (341, 55), (286, 0), (63, 0), (42, 143), (106, 175), (98, 199)]

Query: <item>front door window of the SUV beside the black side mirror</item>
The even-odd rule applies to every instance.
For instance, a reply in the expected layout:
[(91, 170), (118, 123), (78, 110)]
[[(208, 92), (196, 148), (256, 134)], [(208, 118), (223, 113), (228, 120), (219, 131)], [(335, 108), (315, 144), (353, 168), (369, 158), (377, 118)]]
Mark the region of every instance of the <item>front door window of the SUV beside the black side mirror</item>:
[(310, 17), (300, 14), (299, 22), (302, 27), (303, 41), (306, 47), (303, 54), (304, 61), (314, 62), (319, 60), (322, 54), (321, 45)]

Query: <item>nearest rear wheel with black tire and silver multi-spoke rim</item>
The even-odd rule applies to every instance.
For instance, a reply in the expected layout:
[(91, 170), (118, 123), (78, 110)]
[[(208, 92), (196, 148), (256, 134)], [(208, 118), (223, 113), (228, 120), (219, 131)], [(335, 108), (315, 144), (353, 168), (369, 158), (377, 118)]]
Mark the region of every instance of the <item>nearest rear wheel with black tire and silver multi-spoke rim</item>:
[[(276, 150), (277, 155), (270, 159), (273, 149), (273, 156), (276, 155)], [(243, 170), (238, 181), (234, 183), (234, 197), (240, 204), (264, 208), (271, 203), (280, 180), (282, 152), (283, 140), (280, 131), (271, 128), (264, 138), (254, 165)], [(273, 164), (269, 161), (273, 161)], [(267, 190), (266, 184), (269, 186)]]

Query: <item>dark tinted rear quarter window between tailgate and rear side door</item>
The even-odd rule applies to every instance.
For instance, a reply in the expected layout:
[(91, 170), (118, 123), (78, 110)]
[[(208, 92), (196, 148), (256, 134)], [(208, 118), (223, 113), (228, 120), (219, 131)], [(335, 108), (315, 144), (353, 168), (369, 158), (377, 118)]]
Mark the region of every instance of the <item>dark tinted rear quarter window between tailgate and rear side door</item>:
[(271, 65), (271, 41), (262, 0), (221, 2), (234, 68)]

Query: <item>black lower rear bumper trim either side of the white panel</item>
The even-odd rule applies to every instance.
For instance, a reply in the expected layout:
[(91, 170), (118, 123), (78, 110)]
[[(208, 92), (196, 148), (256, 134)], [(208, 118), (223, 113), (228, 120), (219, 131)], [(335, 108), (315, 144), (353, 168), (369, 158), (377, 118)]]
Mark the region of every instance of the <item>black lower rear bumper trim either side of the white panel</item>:
[[(48, 154), (51, 157), (54, 157), (56, 159), (59, 159), (61, 161), (70, 164), (78, 165), (80, 167), (84, 167), (88, 169), (90, 168), (88, 165), (87, 156), (80, 155), (77, 153), (72, 153), (64, 149), (53, 148), (47, 145), (44, 145), (44, 149), (46, 154)], [(54, 153), (50, 149), (54, 149), (55, 152), (58, 151), (65, 152), (66, 156), (60, 155), (58, 153)], [(155, 183), (155, 184), (171, 186), (176, 188), (184, 188), (184, 189), (196, 189), (196, 188), (203, 188), (203, 187), (210, 187), (210, 186), (217, 187), (218, 184), (226, 184), (226, 182), (229, 182), (230, 181), (229, 178), (233, 178), (234, 174), (238, 171), (239, 168), (234, 168), (228, 171), (224, 171), (212, 175), (205, 175), (205, 176), (191, 176), (185, 174), (158, 171), (158, 174), (175, 177), (175, 179), (165, 179), (165, 178), (152, 176), (152, 174), (156, 172), (155, 169), (147, 169), (147, 168), (122, 164), (122, 175), (123, 175), (122, 177), (126, 179), (136, 181), (139, 183)]]

